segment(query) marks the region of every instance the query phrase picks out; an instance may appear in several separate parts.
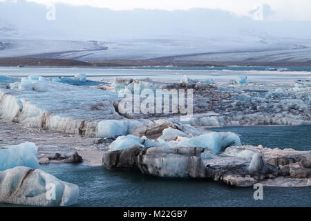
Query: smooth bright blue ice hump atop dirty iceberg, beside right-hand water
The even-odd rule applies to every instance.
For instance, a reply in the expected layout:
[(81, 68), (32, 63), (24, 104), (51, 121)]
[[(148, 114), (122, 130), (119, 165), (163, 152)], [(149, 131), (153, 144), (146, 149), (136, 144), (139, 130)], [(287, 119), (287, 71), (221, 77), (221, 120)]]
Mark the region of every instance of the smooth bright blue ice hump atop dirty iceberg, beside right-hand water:
[(228, 146), (241, 146), (241, 140), (238, 135), (232, 132), (211, 132), (181, 140), (178, 142), (178, 146), (202, 147), (218, 154), (225, 151)]

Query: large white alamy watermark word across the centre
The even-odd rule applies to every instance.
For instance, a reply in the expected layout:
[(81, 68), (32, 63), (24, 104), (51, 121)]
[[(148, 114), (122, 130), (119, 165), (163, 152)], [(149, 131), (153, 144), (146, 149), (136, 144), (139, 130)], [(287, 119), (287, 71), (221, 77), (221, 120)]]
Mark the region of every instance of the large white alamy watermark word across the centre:
[(121, 114), (180, 114), (192, 116), (194, 113), (193, 89), (144, 88), (135, 83), (133, 90), (124, 88), (119, 93), (122, 100), (118, 104)]

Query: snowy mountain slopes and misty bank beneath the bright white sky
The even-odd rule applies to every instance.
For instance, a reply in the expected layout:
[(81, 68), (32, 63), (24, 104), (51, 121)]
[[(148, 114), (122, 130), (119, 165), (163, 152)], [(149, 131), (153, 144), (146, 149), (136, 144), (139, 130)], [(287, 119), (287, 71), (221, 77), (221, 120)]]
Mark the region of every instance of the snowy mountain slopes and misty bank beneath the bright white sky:
[[(98, 61), (311, 61), (311, 21), (256, 21), (211, 9), (113, 11), (0, 2), (0, 57)], [(30, 13), (31, 12), (31, 13)]]

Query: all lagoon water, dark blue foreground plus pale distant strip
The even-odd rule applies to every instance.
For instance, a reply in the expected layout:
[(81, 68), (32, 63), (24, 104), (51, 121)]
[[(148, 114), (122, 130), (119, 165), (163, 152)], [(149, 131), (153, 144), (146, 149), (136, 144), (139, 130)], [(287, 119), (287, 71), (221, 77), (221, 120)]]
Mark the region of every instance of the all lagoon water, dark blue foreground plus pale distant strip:
[[(232, 76), (245, 74), (249, 82), (292, 84), (296, 80), (310, 77), (310, 68), (0, 67), (0, 75), (8, 73), (12, 76), (71, 76), (76, 73), (88, 73), (91, 79), (93, 77), (96, 80), (102, 77), (106, 80), (131, 76), (152, 77), (156, 80), (165, 78), (169, 81), (179, 81), (183, 75), (189, 75), (194, 78), (214, 77), (217, 82), (227, 82)], [(294, 148), (299, 151), (311, 149), (311, 126), (255, 126), (207, 128), (207, 130), (238, 133), (242, 144), (254, 146), (262, 144), (271, 148)], [(264, 187), (263, 200), (254, 200), (252, 188), (236, 188), (209, 180), (151, 177), (130, 171), (107, 171), (102, 166), (92, 167), (83, 164), (49, 164), (42, 165), (41, 169), (60, 180), (79, 186), (79, 204), (75, 206), (311, 206), (310, 186)], [(0, 206), (12, 205), (0, 204)]]

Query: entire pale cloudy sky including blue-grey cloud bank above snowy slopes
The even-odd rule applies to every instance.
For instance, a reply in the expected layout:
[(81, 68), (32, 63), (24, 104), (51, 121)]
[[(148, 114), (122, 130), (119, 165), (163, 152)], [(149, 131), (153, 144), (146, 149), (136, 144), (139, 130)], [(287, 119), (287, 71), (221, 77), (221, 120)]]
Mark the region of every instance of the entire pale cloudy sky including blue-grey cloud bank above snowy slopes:
[(0, 28), (13, 27), (20, 36), (70, 39), (311, 38), (310, 0), (55, 0), (55, 7), (46, 7), (50, 1), (0, 0)]

